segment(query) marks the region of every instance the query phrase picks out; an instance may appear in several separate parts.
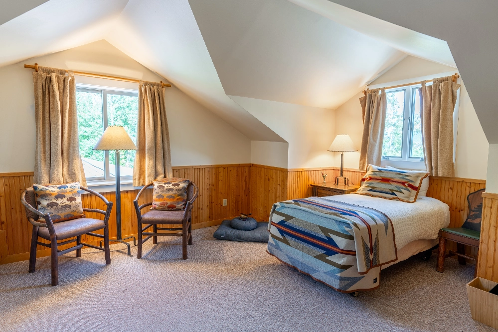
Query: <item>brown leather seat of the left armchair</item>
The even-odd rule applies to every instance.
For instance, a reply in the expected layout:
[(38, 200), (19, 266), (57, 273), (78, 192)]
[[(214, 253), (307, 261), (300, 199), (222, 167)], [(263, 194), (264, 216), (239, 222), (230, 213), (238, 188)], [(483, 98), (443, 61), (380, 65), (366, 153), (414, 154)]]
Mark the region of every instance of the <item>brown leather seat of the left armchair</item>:
[[(105, 226), (104, 220), (92, 218), (77, 218), (54, 223), (57, 240), (64, 240), (73, 236), (83, 235), (102, 229)], [(44, 238), (45, 240), (50, 240), (48, 228), (40, 227), (38, 229), (38, 236)]]

